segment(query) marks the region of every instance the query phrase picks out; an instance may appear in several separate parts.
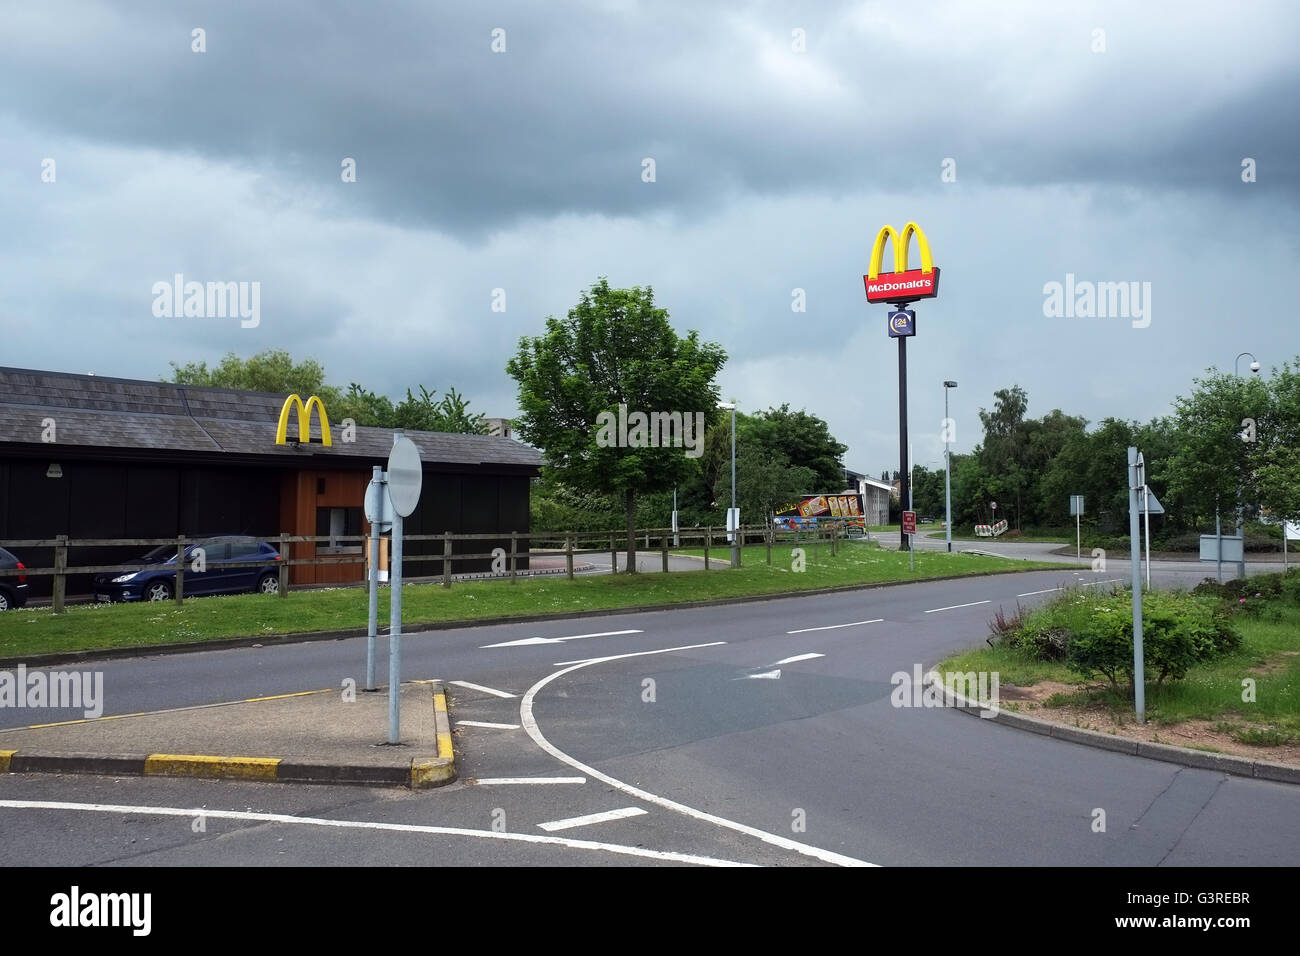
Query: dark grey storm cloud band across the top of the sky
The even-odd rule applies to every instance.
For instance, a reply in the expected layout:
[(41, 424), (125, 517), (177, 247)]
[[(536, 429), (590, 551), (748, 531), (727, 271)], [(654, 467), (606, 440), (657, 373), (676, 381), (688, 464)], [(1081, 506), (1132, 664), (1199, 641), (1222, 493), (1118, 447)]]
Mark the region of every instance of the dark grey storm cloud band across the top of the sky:
[(467, 237), (564, 212), (930, 189), (944, 157), (967, 183), (1228, 190), (1252, 156), (1297, 195), (1300, 125), (1284, 117), (1300, 68), (1274, 59), (1295, 7), (1228, 27), (1126, 5), (1013, 5), (1002, 22), (961, 4), (890, 21), (849, 4), (57, 7), (0, 39), (23, 122), (322, 194), (350, 156), (341, 212)]

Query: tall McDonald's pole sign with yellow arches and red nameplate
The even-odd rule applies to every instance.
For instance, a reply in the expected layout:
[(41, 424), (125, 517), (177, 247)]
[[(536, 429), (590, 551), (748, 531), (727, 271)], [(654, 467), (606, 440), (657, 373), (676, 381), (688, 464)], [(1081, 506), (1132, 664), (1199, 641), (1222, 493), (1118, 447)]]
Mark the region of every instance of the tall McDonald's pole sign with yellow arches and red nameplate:
[[(907, 246), (916, 235), (920, 268), (907, 268)], [(893, 245), (894, 271), (881, 272), (885, 242)], [(904, 226), (902, 234), (893, 226), (881, 226), (871, 246), (867, 274), (862, 277), (868, 303), (893, 306), (889, 312), (889, 337), (898, 339), (898, 546), (911, 550), (911, 541), (902, 527), (901, 514), (910, 510), (911, 462), (907, 455), (907, 339), (916, 334), (916, 313), (905, 306), (918, 299), (939, 295), (939, 268), (930, 254), (930, 241), (915, 222)]]

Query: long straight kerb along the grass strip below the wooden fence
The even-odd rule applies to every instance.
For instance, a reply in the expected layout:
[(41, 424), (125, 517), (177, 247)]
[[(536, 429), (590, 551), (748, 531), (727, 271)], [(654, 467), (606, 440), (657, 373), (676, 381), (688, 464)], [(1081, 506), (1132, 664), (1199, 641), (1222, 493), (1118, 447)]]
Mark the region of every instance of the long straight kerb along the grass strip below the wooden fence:
[[(784, 601), (798, 597), (820, 597), (844, 594), (854, 591), (876, 591), (898, 588), (907, 584), (931, 584), (933, 581), (959, 581), (972, 578), (994, 578), (997, 575), (1022, 575), (1054, 571), (1053, 567), (1004, 568), (1001, 571), (976, 571), (965, 575), (940, 575), (906, 581), (875, 581), (872, 584), (841, 584), (833, 588), (814, 588), (811, 591), (779, 591), (771, 594), (744, 594), (740, 597), (718, 597), (710, 601), (681, 601), (677, 604), (634, 605), (630, 607), (602, 607), (590, 611), (568, 611), (560, 614), (520, 614), (500, 618), (476, 618), (469, 620), (403, 622), (403, 636), (417, 636), (420, 631), (455, 631), (462, 627), (495, 627), (498, 624), (532, 624), (543, 620), (581, 620), (582, 618), (612, 618), (620, 614), (647, 614), (650, 611), (692, 610), (697, 607), (723, 607), (736, 604), (758, 601)], [(286, 598), (287, 600), (287, 598)], [(380, 628), (381, 633), (387, 628)], [(302, 631), (298, 633), (248, 635), (244, 637), (217, 637), (211, 641), (183, 641), (176, 644), (150, 644), (133, 648), (103, 648), (99, 650), (56, 650), (46, 654), (0, 658), (0, 667), (53, 667), (61, 663), (83, 663), (90, 661), (116, 661), (133, 657), (159, 657), (162, 654), (194, 654), (203, 650), (230, 650), (231, 648), (278, 646), (281, 644), (312, 644), (316, 641), (343, 641), (352, 637), (365, 637), (364, 627), (350, 627), (338, 631)]]

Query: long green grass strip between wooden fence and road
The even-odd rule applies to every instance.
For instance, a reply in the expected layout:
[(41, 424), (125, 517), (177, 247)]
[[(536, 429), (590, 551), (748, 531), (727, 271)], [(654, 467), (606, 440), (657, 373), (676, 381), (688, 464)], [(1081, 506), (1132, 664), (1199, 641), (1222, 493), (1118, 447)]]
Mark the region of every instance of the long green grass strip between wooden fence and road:
[[(806, 549), (807, 567), (792, 572), (789, 546), (772, 549), (772, 566), (762, 546), (746, 548), (741, 568), (670, 574), (599, 575), (465, 581), (450, 589), (438, 584), (410, 584), (402, 592), (402, 622), (408, 631), (421, 623), (473, 622), (484, 618), (567, 614), (582, 610), (672, 605), (746, 594), (809, 591), (836, 585), (922, 580), (944, 575), (997, 570), (1054, 568), (1005, 558), (968, 554), (918, 553), (916, 570), (907, 555), (867, 544), (848, 544), (838, 557), (820, 545)], [(719, 555), (722, 550), (719, 550)], [(380, 589), (380, 620), (389, 619), (389, 589)], [(191, 598), (174, 604), (73, 605), (62, 614), (27, 607), (0, 615), (0, 657), (100, 648), (146, 648), (176, 641), (269, 636), (303, 631), (364, 628), (364, 588), (296, 591), (287, 597), (237, 594)]]

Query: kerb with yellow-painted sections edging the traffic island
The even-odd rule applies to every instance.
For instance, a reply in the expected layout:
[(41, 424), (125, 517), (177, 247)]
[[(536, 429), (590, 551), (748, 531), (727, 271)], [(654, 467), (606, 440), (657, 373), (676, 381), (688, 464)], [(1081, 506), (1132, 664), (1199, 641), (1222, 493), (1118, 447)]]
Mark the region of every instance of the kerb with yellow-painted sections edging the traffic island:
[(364, 786), (441, 787), (456, 779), (447, 697), (433, 682), (437, 756), (412, 757), (408, 766), (294, 761), (281, 757), (198, 753), (42, 753), (0, 750), (0, 774), (99, 774), (109, 777), (188, 777), (263, 783), (358, 783)]

